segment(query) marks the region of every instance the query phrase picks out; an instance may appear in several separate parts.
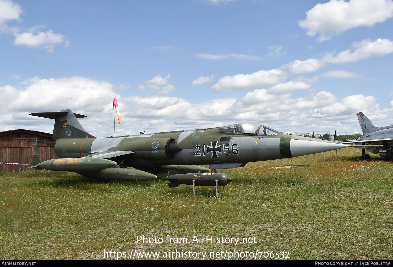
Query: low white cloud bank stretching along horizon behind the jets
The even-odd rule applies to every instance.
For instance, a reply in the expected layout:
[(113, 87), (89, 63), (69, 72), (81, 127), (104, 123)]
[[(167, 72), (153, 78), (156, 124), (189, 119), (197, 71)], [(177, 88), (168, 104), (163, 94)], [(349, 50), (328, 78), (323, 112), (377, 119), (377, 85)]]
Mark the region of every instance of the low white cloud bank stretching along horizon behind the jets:
[[(162, 77), (161, 77), (162, 78)], [(304, 78), (304, 77), (299, 77)], [(165, 77), (151, 79), (165, 84)], [(303, 82), (306, 80), (304, 78)], [(311, 78), (310, 80), (316, 80)], [(123, 125), (116, 134), (136, 134), (219, 127), (237, 122), (259, 122), (279, 131), (328, 132), (358, 128), (356, 113), (363, 111), (375, 125), (388, 125), (393, 104), (379, 109), (374, 96), (354, 95), (337, 98), (321, 91), (302, 98), (290, 94), (273, 94), (269, 89), (255, 89), (240, 98), (215, 99), (203, 104), (168, 96), (121, 98), (113, 85), (74, 76), (59, 79), (32, 79), (32, 84), (17, 89), (0, 87), (0, 125), (2, 130), (31, 129), (51, 132), (53, 120), (28, 116), (31, 112), (52, 112), (70, 108), (88, 115), (81, 124), (95, 136), (113, 135), (112, 98), (117, 97)], [(285, 83), (282, 88), (305, 88), (307, 85)], [(390, 121), (389, 121), (390, 120)], [(342, 123), (341, 123), (342, 121)], [(339, 133), (339, 132), (338, 132)]]

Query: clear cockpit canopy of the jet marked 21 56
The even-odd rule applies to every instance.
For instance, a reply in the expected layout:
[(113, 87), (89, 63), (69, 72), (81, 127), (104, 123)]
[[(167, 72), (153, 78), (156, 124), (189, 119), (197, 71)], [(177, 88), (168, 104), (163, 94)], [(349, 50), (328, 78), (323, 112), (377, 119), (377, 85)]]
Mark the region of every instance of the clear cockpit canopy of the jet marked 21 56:
[(252, 122), (239, 123), (220, 127), (218, 133), (235, 133), (235, 134), (251, 134), (251, 135), (276, 135), (278, 132), (266, 127), (262, 124)]

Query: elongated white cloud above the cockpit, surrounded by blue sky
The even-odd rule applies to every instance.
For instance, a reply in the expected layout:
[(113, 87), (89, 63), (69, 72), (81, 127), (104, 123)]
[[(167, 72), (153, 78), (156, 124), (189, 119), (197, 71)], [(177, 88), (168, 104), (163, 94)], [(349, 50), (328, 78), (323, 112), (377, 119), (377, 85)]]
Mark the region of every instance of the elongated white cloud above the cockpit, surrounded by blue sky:
[(280, 69), (257, 71), (252, 74), (236, 74), (220, 78), (217, 84), (213, 85), (211, 88), (218, 91), (228, 91), (231, 89), (264, 87), (266, 85), (283, 82), (286, 77), (287, 73)]

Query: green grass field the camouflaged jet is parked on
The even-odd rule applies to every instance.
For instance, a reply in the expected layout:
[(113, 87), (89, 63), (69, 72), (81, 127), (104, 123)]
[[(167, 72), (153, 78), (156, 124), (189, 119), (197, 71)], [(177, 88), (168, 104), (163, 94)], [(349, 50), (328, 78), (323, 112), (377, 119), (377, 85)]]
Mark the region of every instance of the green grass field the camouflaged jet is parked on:
[[(214, 187), (101, 182), (74, 173), (0, 174), (1, 259), (102, 259), (103, 251), (288, 251), (290, 259), (392, 259), (393, 162), (346, 148), (223, 170)], [(279, 166), (288, 159), (278, 160)], [(298, 167), (304, 165), (304, 167)], [(198, 188), (199, 191), (199, 188)], [(138, 235), (164, 238), (137, 243)], [(187, 244), (165, 243), (167, 235)], [(199, 244), (193, 236), (256, 237), (256, 243)], [(259, 258), (259, 254), (258, 254)], [(263, 258), (263, 257), (262, 257)]]

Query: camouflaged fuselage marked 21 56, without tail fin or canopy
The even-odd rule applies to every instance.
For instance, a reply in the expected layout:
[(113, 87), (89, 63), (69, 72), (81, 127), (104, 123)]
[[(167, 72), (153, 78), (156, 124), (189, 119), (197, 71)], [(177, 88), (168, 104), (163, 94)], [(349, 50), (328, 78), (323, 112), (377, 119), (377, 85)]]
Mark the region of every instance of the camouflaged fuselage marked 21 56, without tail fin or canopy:
[[(188, 165), (255, 162), (292, 157), (290, 140), (328, 142), (278, 133), (276, 135), (218, 133), (219, 128), (108, 138), (61, 138), (55, 153), (60, 158), (88, 156), (106, 151), (133, 151), (130, 160), (143, 159), (151, 165)], [(173, 155), (168, 142), (182, 148)], [(329, 142), (331, 143), (331, 142)], [(296, 155), (297, 156), (297, 155)]]

